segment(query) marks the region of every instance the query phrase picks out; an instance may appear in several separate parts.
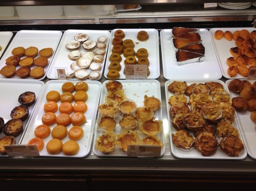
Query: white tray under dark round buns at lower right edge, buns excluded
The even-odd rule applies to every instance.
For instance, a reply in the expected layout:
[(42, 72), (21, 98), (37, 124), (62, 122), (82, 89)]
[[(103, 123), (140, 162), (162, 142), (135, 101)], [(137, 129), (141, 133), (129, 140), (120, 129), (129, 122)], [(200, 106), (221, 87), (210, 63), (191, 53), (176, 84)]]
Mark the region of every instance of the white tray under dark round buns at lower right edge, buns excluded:
[[(226, 87), (228, 87), (228, 84), (232, 81), (232, 79), (228, 79), (226, 81)], [(253, 83), (254, 80), (249, 80), (250, 83)], [(231, 98), (239, 96), (239, 93), (234, 93), (232, 91), (229, 91)], [(253, 123), (253, 121), (250, 119), (250, 111), (244, 111), (239, 112), (237, 111), (237, 119), (238, 119), (238, 125), (241, 129), (241, 133), (244, 137), (244, 144), (246, 146), (247, 152), (250, 155), (250, 157), (256, 159), (256, 125)]]

